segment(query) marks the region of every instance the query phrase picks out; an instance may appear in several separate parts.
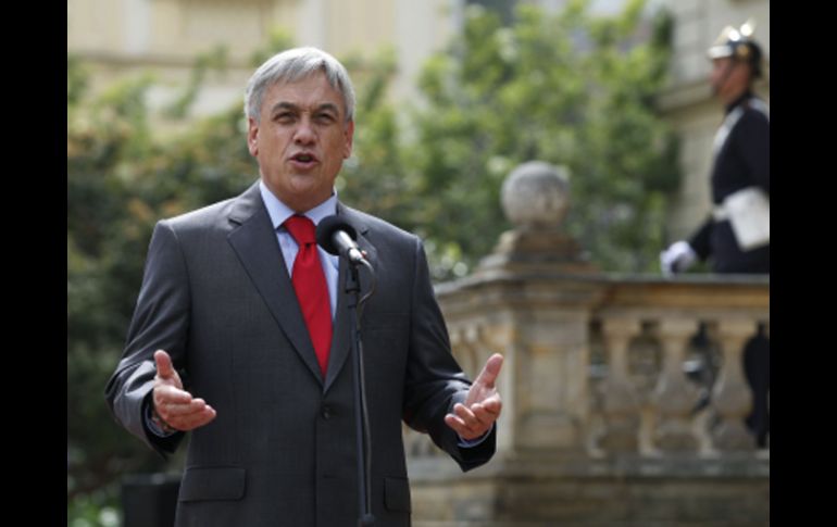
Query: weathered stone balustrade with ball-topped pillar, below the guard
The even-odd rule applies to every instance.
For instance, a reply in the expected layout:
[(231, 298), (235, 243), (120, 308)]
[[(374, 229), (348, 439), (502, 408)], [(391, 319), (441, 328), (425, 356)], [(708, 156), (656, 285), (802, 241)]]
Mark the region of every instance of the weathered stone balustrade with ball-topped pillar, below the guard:
[(504, 355), (503, 412), (497, 455), (465, 475), (405, 428), (415, 525), (765, 525), (741, 362), (770, 328), (769, 277), (601, 273), (560, 229), (567, 203), (558, 171), (523, 165), (503, 188), (515, 228), (437, 287), (463, 369)]

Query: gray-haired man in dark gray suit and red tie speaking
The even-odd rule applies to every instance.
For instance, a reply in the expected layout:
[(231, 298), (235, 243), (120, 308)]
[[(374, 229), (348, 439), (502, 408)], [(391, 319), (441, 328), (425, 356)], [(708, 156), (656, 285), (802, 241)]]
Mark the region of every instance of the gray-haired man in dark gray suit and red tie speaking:
[(279, 53), (253, 74), (245, 105), (260, 180), (157, 225), (108, 403), (161, 454), (191, 431), (178, 526), (357, 525), (348, 264), (311, 238), (338, 214), (377, 277), (362, 322), (372, 513), (376, 526), (409, 526), (401, 421), (463, 470), (486, 463), (502, 356), (470, 382), (450, 353), (421, 240), (337, 200), (354, 133), (339, 62), (313, 48)]

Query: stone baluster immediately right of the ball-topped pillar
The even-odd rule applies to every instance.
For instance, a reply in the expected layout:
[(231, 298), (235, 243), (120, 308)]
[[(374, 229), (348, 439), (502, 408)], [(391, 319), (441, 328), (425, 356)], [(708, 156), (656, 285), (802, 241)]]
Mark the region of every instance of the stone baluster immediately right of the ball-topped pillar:
[(598, 446), (608, 452), (636, 452), (638, 448), (639, 403), (628, 377), (627, 350), (639, 330), (635, 319), (602, 321), (609, 367), (603, 386), (604, 430)]

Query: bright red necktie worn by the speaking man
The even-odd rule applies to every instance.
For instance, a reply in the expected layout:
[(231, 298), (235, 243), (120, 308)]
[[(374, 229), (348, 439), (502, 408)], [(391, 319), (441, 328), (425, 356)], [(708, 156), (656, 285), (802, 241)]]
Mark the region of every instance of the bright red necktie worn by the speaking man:
[(299, 252), (291, 271), (291, 281), (299, 306), (302, 309), (308, 334), (314, 344), (320, 369), (325, 377), (328, 368), (328, 350), (332, 347), (332, 305), (316, 250), (314, 222), (305, 216), (290, 216), (285, 221), (285, 228), (299, 244)]

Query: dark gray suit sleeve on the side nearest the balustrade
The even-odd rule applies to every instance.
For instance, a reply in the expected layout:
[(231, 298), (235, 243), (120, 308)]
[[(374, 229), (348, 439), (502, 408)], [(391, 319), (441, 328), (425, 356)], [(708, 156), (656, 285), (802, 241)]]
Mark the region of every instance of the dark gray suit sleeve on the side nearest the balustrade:
[(496, 428), (478, 446), (463, 448), (459, 437), (445, 424), (445, 415), (464, 402), (471, 382), (453, 359), (448, 329), (430, 283), (427, 256), (416, 238), (410, 319), (410, 356), (407, 365), (404, 421), (410, 427), (429, 434), (462, 470), (475, 468), (496, 449)]

